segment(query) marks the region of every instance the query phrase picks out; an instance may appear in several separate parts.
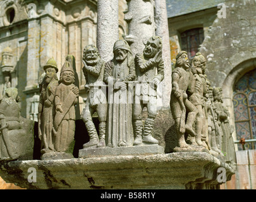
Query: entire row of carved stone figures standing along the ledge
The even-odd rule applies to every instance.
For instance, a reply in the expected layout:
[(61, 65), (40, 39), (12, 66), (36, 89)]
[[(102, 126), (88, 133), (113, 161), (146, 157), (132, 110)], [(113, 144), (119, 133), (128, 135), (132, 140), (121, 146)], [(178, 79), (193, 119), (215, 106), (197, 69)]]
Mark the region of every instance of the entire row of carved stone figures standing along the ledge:
[[(101, 155), (109, 155), (108, 151), (115, 148), (140, 148), (140, 154), (143, 154), (148, 152), (143, 148), (159, 145), (152, 131), (159, 110), (159, 84), (164, 80), (162, 40), (152, 36), (144, 45), (143, 52), (133, 56), (128, 42), (118, 40), (114, 44), (111, 61), (103, 61), (95, 45), (87, 45), (83, 49), (87, 100), (82, 120), (90, 138), (83, 145), (83, 153), (106, 150)], [(173, 136), (177, 140), (174, 151), (204, 151), (227, 163), (234, 163), (229, 113), (222, 104), (221, 88), (212, 88), (205, 75), (205, 62), (200, 52), (192, 61), (185, 51), (176, 56), (170, 81), (170, 108), (176, 131)], [(79, 96), (79, 89), (74, 84), (75, 58), (66, 57), (59, 79), (58, 70), (56, 61), (49, 59), (39, 83), (42, 160), (56, 155), (59, 158), (72, 157), (67, 150), (75, 136), (75, 105)], [(18, 153), (22, 150), (19, 148), (27, 146), (20, 138), (26, 139), (32, 131), (28, 129), (31, 122), (22, 124), (29, 121), (20, 116), (18, 102), (16, 88), (7, 88), (0, 103), (0, 160), (19, 159)], [(145, 120), (142, 119), (144, 107), (148, 114)], [(95, 127), (92, 119), (95, 112), (99, 128)]]

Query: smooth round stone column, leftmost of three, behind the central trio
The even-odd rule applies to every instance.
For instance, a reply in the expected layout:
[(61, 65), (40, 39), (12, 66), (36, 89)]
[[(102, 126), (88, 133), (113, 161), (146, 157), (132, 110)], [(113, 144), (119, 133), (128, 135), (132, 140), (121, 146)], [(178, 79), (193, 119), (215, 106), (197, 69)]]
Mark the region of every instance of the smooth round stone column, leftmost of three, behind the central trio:
[(118, 40), (118, 0), (98, 0), (97, 6), (97, 49), (102, 59), (109, 61)]

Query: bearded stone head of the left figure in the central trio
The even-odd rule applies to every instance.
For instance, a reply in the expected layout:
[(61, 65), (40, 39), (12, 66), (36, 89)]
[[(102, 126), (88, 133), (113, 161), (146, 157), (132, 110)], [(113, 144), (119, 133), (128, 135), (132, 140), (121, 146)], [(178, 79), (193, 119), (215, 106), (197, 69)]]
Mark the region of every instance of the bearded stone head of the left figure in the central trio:
[(83, 61), (85, 61), (87, 65), (94, 66), (100, 58), (101, 56), (95, 45), (87, 45), (83, 49)]

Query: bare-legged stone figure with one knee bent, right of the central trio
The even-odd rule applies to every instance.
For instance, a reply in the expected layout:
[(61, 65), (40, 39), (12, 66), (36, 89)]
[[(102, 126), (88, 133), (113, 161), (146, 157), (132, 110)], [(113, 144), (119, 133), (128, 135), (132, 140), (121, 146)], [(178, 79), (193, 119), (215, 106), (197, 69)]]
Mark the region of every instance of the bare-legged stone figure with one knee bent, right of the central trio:
[[(195, 105), (188, 100), (188, 96), (193, 93), (193, 88), (190, 86), (193, 74), (191, 71), (188, 71), (189, 68), (190, 61), (187, 53), (185, 51), (179, 52), (176, 56), (176, 65), (172, 73), (173, 88), (170, 105), (178, 139), (177, 148), (181, 148), (181, 150), (189, 148), (185, 141), (185, 132), (195, 136), (193, 122), (195, 122), (198, 112)], [(188, 113), (187, 118), (186, 112)]]

